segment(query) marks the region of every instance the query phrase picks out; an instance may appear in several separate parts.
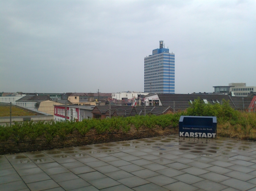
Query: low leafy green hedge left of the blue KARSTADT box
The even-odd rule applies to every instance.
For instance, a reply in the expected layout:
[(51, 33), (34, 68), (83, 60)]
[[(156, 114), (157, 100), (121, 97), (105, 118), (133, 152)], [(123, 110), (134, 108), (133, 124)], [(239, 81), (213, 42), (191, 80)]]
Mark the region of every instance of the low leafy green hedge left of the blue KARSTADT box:
[[(91, 129), (95, 129), (98, 135), (102, 133), (129, 133), (131, 126), (134, 126), (137, 133), (144, 126), (146, 130), (154, 131), (156, 127), (165, 129), (169, 126), (176, 127), (178, 125), (179, 116), (175, 115), (147, 115), (134, 117), (113, 117), (106, 119), (91, 119), (81, 122), (74, 121), (50, 121), (50, 122), (22, 122), (11, 127), (0, 127), (1, 142), (16, 142), (19, 144), (23, 141), (35, 143), (37, 139), (45, 139), (51, 143), (54, 138), (64, 141), (68, 136), (72, 136), (74, 131), (85, 137)], [(77, 134), (76, 134), (77, 135)]]

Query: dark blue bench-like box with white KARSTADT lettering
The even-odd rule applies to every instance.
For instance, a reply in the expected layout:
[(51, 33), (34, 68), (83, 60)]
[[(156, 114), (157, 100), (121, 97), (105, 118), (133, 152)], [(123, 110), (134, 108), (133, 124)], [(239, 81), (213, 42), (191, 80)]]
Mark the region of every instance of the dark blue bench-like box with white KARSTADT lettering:
[(217, 118), (215, 116), (180, 116), (180, 136), (215, 138)]

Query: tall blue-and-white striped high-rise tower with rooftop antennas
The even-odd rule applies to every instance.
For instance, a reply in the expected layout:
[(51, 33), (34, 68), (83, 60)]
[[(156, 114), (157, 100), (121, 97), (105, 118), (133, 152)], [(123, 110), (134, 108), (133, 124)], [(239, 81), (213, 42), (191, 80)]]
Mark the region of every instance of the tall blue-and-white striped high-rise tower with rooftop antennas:
[(174, 93), (174, 54), (160, 40), (160, 47), (144, 58), (144, 92)]

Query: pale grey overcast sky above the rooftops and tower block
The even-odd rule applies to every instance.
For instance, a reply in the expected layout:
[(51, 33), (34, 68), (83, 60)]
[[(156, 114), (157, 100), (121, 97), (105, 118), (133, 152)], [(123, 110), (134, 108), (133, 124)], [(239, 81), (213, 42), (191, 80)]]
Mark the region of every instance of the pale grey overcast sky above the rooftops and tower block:
[(175, 53), (175, 93), (256, 86), (256, 1), (0, 0), (0, 92), (144, 91)]

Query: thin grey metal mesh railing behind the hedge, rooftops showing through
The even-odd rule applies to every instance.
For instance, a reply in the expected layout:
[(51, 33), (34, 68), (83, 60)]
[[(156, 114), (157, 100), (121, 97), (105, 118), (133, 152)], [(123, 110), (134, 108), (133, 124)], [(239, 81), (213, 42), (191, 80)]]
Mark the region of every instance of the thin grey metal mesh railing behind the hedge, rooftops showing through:
[[(122, 102), (122, 101), (120, 101)], [(124, 103), (124, 102), (122, 102)], [(131, 103), (132, 104), (132, 103)], [(190, 107), (186, 101), (166, 101), (158, 102), (159, 105), (154, 105), (154, 102), (146, 106), (143, 102), (136, 102), (135, 106), (119, 104), (119, 102), (102, 102), (100, 104), (89, 105), (84, 103), (67, 102), (58, 103), (52, 101), (44, 102), (0, 102), (0, 126), (11, 126), (15, 122), (24, 121), (49, 121), (49, 120), (76, 120), (91, 118), (111, 118), (111, 117), (128, 117), (135, 115), (163, 115), (167, 113), (177, 113), (184, 111)], [(133, 103), (134, 104), (134, 103)], [(218, 103), (208, 104), (223, 104)], [(240, 101), (230, 101), (230, 106), (234, 109), (249, 111), (249, 104), (243, 99)], [(98, 106), (99, 105), (99, 106)], [(139, 106), (140, 105), (140, 106)], [(255, 112), (256, 108), (250, 109)]]

